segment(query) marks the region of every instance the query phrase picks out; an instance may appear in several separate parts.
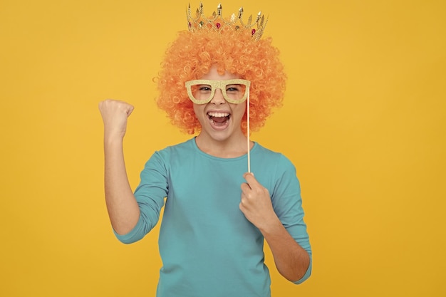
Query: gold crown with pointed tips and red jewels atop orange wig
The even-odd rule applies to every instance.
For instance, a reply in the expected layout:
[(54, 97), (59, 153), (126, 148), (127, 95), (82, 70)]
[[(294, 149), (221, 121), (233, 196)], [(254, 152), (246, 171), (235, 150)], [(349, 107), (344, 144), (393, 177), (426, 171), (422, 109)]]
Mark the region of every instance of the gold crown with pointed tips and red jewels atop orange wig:
[[(256, 21), (252, 22), (252, 15), (249, 16), (247, 23), (243, 21), (243, 7), (240, 7), (239, 14), (237, 16), (232, 14), (230, 19), (224, 19), (222, 16), (222, 4), (217, 6), (217, 12), (212, 13), (211, 18), (207, 18), (203, 14), (203, 4), (199, 4), (199, 8), (197, 9), (195, 18), (192, 17), (190, 4), (187, 9), (187, 28), (189, 31), (195, 32), (202, 29), (207, 29), (211, 31), (220, 32), (224, 30), (224, 28), (232, 28), (235, 31), (247, 31), (251, 32), (252, 38), (255, 41), (258, 41), (261, 38), (261, 35), (264, 33), (264, 28), (268, 19), (265, 20), (265, 17), (261, 15), (261, 11), (257, 14)], [(254, 28), (256, 26), (256, 28)]]

